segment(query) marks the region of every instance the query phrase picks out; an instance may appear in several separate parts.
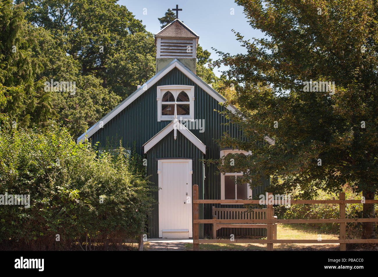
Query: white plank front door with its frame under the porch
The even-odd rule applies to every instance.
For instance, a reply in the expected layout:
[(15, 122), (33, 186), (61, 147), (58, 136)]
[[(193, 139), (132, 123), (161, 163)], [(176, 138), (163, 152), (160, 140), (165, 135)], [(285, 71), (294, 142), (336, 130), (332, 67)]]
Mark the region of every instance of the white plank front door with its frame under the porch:
[(192, 237), (192, 160), (158, 160), (159, 237)]

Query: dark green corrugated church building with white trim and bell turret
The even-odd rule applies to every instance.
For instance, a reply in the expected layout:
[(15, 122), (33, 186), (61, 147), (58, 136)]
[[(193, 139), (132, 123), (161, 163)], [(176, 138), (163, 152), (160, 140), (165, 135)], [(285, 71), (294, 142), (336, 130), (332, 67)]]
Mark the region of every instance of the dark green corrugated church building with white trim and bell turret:
[[(229, 123), (219, 111), (236, 112), (226, 99), (196, 75), (199, 36), (176, 18), (155, 35), (156, 74), (115, 109), (94, 124), (77, 142), (87, 137), (99, 147), (130, 148), (147, 159), (147, 176), (161, 190), (153, 192), (159, 203), (148, 220), (149, 238), (192, 237), (192, 185), (200, 199), (247, 199), (263, 193), (269, 179), (251, 190), (238, 184), (242, 173), (219, 173), (207, 159), (219, 159), (242, 150), (221, 149), (216, 140), (224, 132), (242, 138), (242, 130)], [(200, 204), (200, 219), (212, 218), (213, 204)], [(241, 205), (217, 204), (222, 208)], [(218, 236), (264, 236), (266, 229), (222, 228)], [(211, 234), (201, 226), (200, 237)]]

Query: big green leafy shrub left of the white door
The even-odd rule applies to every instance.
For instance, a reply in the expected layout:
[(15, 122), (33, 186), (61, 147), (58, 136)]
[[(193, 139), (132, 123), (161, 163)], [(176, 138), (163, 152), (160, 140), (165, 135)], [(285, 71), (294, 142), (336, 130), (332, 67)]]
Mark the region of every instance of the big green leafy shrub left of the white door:
[[(0, 130), (0, 194), (30, 194), (30, 207), (0, 205), (2, 249), (106, 249), (140, 234), (151, 187), (132, 173), (122, 147), (114, 159), (67, 130)], [(101, 203), (103, 199), (103, 203)], [(56, 241), (59, 234), (60, 241)]]

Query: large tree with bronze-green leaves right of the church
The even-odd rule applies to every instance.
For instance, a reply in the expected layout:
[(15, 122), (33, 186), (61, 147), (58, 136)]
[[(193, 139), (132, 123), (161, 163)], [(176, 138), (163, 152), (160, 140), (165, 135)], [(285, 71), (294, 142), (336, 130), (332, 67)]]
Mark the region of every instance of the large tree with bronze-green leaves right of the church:
[[(246, 54), (230, 55), (213, 66), (229, 66), (236, 81), (247, 141), (226, 136), (222, 146), (250, 150), (237, 171), (251, 184), (272, 176), (270, 190), (298, 185), (341, 190), (344, 184), (374, 199), (378, 183), (378, 25), (376, 1), (237, 0), (251, 28), (266, 37), (243, 37)], [(335, 82), (333, 92), (307, 91), (304, 82)], [(276, 139), (262, 144), (263, 136)], [(235, 157), (235, 164), (237, 157)], [(223, 170), (225, 166), (221, 166)], [(232, 172), (235, 172), (232, 171)], [(372, 204), (364, 216), (374, 217)], [(366, 227), (369, 224), (366, 224)], [(373, 224), (370, 224), (372, 227)], [(369, 227), (369, 228), (370, 228)], [(366, 228), (367, 236), (373, 230)]]

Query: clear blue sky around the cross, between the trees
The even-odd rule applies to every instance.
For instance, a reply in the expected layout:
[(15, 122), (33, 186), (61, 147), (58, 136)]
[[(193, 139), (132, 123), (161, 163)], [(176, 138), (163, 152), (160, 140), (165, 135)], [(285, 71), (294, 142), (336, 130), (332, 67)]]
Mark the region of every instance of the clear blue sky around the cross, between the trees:
[[(231, 54), (245, 53), (231, 29), (240, 32), (246, 39), (263, 36), (260, 31), (249, 26), (243, 8), (233, 0), (119, 0), (117, 3), (126, 6), (153, 34), (160, 31), (158, 17), (163, 17), (168, 8), (178, 5), (178, 8), (183, 9), (178, 12), (178, 18), (200, 36), (198, 43), (211, 52), (213, 60), (218, 56), (211, 47)], [(147, 9), (147, 15), (143, 15), (144, 8)], [(230, 14), (231, 8), (234, 9), (234, 15)], [(217, 69), (214, 72), (220, 76)]]

